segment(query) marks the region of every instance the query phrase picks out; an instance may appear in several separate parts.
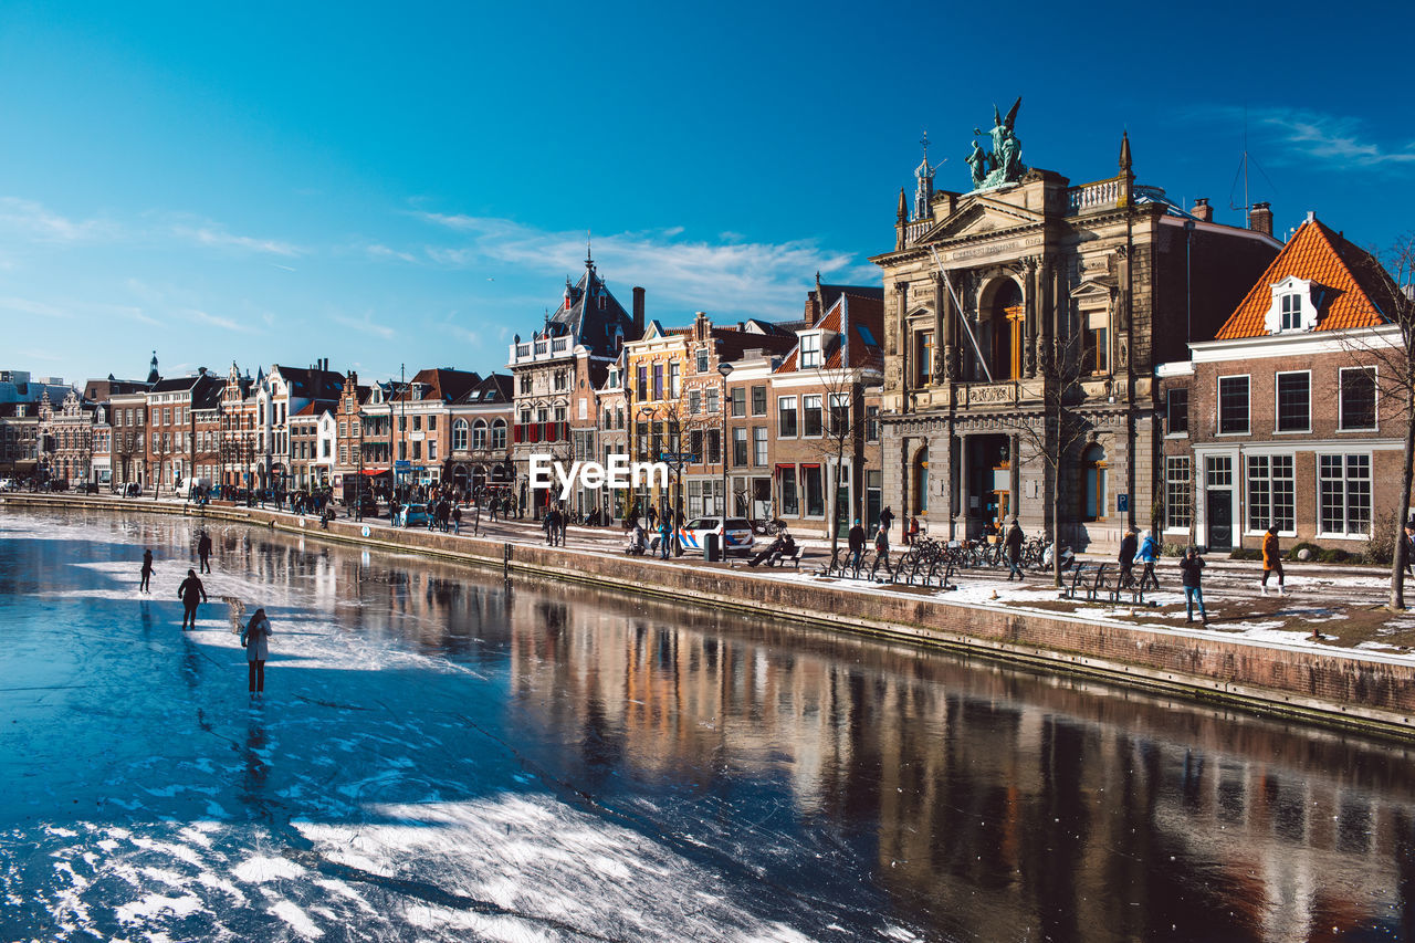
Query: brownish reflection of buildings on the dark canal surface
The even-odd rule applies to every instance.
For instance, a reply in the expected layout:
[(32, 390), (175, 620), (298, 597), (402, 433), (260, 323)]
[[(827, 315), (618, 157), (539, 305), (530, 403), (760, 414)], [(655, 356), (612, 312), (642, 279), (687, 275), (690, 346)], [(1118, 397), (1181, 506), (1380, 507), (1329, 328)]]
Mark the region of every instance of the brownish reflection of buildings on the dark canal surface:
[(880, 886), (949, 933), (1276, 942), (1401, 898), (1409, 813), (1373, 796), (1409, 803), (1405, 756), (903, 647), (566, 599), (522, 593), (511, 613), (532, 721), (583, 729), (591, 767), (705, 790), (778, 780), (799, 818), (873, 834)]

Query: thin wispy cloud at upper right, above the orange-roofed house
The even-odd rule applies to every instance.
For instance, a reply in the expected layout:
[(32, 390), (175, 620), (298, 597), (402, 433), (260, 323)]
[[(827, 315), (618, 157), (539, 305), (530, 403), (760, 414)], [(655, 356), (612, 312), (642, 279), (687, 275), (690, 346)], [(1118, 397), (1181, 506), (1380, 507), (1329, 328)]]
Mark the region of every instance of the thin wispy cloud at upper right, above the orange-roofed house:
[(1305, 108), (1251, 108), (1245, 113), (1234, 105), (1193, 109), (1189, 116), (1238, 129), (1247, 116), (1249, 136), (1282, 146), (1271, 156), (1259, 153), (1259, 159), (1271, 164), (1292, 163), (1293, 157), (1303, 157), (1343, 167), (1415, 167), (1415, 140), (1382, 143), (1360, 118)]

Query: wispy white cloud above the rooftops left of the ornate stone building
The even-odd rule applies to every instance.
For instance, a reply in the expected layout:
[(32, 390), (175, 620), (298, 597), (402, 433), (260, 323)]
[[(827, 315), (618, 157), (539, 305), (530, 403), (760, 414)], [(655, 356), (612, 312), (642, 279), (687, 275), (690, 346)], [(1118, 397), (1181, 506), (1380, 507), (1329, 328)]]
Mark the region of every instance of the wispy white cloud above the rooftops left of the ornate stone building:
[[(511, 219), (415, 212), (417, 218), (464, 236), (458, 245), (430, 245), (427, 258), (449, 268), (509, 265), (546, 275), (572, 275), (584, 266), (584, 235), (548, 232)], [(815, 273), (877, 283), (873, 266), (848, 252), (822, 249), (811, 239), (716, 242), (682, 238), (682, 227), (594, 236), (594, 259), (611, 286), (642, 285), (652, 299), (706, 310), (761, 317), (798, 317)], [(627, 299), (621, 297), (627, 303)], [(666, 314), (676, 317), (676, 314)]]

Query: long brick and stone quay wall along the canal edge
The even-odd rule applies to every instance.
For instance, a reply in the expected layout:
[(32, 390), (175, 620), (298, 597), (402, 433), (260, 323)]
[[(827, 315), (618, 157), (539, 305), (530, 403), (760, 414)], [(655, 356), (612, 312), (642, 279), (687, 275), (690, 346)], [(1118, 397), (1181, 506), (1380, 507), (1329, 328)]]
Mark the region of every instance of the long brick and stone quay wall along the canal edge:
[(682, 605), (945, 648), (1126, 687), (1415, 739), (1415, 661), (1380, 653), (1225, 639), (1208, 630), (969, 605), (910, 592), (782, 579), (603, 551), (562, 549), (424, 530), (300, 518), (260, 508), (76, 496), (6, 494), (11, 507), (163, 513), (246, 522), (311, 539), (415, 552), (499, 569), (505, 578), (608, 586)]

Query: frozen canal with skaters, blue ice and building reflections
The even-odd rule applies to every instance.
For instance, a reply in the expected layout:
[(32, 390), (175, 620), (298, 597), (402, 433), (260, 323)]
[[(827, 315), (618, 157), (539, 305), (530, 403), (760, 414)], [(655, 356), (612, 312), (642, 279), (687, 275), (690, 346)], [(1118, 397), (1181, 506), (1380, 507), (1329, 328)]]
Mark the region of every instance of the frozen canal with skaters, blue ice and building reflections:
[(197, 528), (0, 511), (3, 940), (1415, 939), (1409, 750)]

